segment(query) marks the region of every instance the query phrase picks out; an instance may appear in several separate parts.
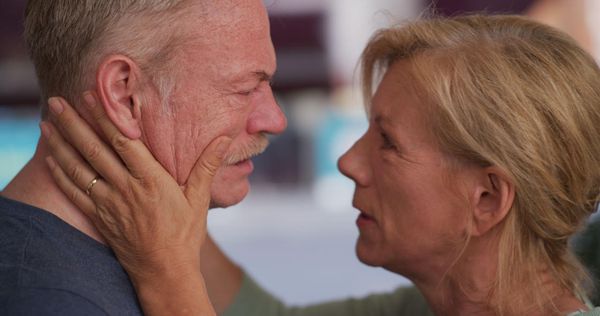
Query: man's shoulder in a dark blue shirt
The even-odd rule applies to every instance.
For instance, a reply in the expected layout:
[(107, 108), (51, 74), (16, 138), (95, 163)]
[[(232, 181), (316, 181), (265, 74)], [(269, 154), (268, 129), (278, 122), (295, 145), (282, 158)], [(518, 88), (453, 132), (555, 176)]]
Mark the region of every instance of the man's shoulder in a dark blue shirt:
[(44, 210), (4, 198), (0, 198), (0, 306), (2, 301), (25, 311), (72, 310), (76, 304), (88, 304), (90, 310), (109, 314), (141, 313), (133, 286), (109, 248)]

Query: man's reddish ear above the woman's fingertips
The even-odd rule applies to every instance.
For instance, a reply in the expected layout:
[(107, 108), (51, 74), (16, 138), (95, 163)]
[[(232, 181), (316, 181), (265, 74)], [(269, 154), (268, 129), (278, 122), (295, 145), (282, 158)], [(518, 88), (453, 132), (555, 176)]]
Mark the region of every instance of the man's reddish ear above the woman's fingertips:
[(108, 56), (98, 67), (96, 85), (100, 103), (121, 133), (131, 139), (141, 137), (137, 64), (123, 55)]

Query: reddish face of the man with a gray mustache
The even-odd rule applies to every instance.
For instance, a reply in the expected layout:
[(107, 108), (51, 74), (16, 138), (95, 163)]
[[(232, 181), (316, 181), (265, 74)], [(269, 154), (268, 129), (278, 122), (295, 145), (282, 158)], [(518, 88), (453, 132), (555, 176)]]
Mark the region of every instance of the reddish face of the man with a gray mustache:
[(205, 147), (218, 136), (231, 137), (228, 165), (211, 189), (212, 206), (225, 207), (247, 194), (249, 158), (264, 150), (265, 134), (279, 134), (287, 124), (269, 85), (275, 52), (260, 0), (210, 1), (208, 8), (189, 10), (181, 31), (192, 36), (177, 48), (169, 105), (142, 106), (143, 138), (185, 184)]

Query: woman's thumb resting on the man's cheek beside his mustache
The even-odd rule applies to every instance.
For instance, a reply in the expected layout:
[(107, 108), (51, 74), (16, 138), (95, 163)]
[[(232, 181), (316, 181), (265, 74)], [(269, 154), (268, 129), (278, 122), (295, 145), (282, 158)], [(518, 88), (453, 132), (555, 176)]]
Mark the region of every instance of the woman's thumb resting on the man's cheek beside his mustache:
[(208, 210), (212, 179), (221, 167), (229, 145), (231, 138), (219, 137), (204, 149), (196, 161), (185, 187), (185, 196), (194, 210)]

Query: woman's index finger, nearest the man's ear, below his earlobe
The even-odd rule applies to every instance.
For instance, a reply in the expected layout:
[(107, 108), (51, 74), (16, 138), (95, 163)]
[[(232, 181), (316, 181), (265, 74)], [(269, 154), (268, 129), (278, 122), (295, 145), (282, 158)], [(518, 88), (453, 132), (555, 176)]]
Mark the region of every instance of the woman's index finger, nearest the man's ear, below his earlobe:
[(100, 106), (93, 91), (84, 93), (84, 101), (104, 136), (117, 155), (121, 157), (133, 177), (145, 179), (150, 174), (164, 170), (141, 140), (130, 139), (121, 133), (107, 116), (104, 108)]

